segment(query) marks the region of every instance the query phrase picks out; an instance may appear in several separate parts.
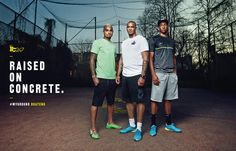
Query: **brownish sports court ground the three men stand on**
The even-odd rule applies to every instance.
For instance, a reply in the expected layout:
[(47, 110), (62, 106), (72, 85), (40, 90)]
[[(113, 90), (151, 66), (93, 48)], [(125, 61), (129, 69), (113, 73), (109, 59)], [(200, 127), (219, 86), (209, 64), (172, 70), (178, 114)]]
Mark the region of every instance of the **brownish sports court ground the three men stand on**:
[[(173, 102), (173, 121), (183, 132), (164, 130), (163, 109), (158, 112), (158, 134), (149, 136), (150, 90), (146, 90), (143, 139), (133, 133), (106, 129), (106, 105), (99, 108), (101, 139), (92, 140), (89, 108), (93, 88), (68, 88), (64, 94), (0, 97), (1, 151), (233, 151), (236, 150), (236, 94), (180, 88)], [(127, 113), (117, 91), (114, 120), (127, 126)], [(35, 102), (11, 106), (12, 102)], [(39, 104), (37, 104), (39, 103)]]

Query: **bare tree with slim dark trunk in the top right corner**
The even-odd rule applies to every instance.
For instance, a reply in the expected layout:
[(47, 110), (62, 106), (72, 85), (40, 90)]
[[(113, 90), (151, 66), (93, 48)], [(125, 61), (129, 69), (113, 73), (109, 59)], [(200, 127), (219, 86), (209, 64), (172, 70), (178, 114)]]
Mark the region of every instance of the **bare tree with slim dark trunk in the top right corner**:
[(194, 14), (197, 20), (200, 20), (199, 28), (206, 31), (207, 63), (209, 65), (215, 53), (212, 47), (213, 35), (218, 29), (232, 21), (235, 0), (195, 0), (194, 2), (196, 6)]

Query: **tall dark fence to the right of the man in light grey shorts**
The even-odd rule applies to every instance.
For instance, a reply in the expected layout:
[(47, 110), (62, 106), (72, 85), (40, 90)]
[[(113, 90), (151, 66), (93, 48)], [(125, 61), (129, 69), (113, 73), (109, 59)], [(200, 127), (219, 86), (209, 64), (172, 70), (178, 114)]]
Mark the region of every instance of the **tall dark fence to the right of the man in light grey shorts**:
[(214, 88), (232, 87), (236, 84), (236, 71), (232, 70), (236, 67), (236, 21), (210, 31), (210, 41), (207, 28), (201, 24), (191, 32), (182, 33), (178, 60), (180, 82)]

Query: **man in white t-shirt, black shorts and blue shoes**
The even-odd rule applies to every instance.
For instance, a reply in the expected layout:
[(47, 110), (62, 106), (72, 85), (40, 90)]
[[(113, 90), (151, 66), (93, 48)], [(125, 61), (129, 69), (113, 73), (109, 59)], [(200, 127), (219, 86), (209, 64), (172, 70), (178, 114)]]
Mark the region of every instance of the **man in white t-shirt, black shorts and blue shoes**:
[[(129, 38), (121, 45), (121, 57), (117, 71), (117, 84), (120, 83), (122, 70), (122, 99), (126, 101), (129, 116), (129, 126), (120, 130), (121, 134), (135, 131), (134, 140), (142, 139), (142, 121), (144, 116), (144, 83), (148, 66), (148, 42), (136, 34), (136, 23), (127, 23)], [(136, 108), (134, 103), (136, 103)], [(137, 109), (137, 125), (134, 120), (134, 110)]]

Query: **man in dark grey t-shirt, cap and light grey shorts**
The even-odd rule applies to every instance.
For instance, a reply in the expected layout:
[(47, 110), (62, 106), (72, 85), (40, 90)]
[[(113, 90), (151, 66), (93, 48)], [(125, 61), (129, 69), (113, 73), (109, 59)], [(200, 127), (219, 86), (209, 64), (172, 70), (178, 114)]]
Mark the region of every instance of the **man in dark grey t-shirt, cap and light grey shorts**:
[(152, 76), (151, 91), (151, 128), (150, 135), (157, 134), (156, 114), (158, 103), (164, 103), (166, 118), (165, 130), (180, 133), (171, 119), (171, 101), (178, 99), (178, 78), (176, 75), (175, 42), (168, 37), (168, 20), (159, 20), (160, 34), (149, 41), (150, 71)]

